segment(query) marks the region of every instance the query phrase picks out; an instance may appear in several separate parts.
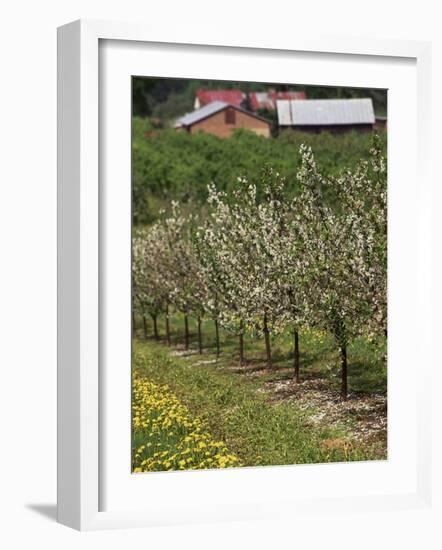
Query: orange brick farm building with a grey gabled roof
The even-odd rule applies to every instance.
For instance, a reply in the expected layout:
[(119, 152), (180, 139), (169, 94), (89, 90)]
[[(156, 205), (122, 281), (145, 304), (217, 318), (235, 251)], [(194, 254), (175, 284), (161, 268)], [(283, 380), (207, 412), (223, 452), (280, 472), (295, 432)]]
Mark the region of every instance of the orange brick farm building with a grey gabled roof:
[(207, 132), (218, 137), (229, 137), (238, 128), (251, 130), (260, 136), (270, 136), (270, 122), (223, 101), (213, 101), (192, 113), (177, 119), (175, 128), (191, 134)]

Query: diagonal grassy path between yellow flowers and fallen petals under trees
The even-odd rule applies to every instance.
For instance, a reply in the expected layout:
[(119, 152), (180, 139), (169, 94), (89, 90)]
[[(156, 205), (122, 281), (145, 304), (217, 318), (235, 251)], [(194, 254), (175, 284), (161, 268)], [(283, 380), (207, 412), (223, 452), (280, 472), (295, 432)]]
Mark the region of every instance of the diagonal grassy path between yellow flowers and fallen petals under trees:
[[(318, 413), (314, 407), (269, 399), (262, 391), (263, 379), (247, 376), (226, 364), (215, 365), (212, 355), (183, 355), (152, 341), (135, 340), (133, 364), (141, 379), (158, 388), (167, 385), (166, 392), (170, 390), (170, 395), (176, 397), (185, 415), (201, 423), (208, 440), (222, 443), (224, 455), (236, 457), (241, 465), (384, 458), (376, 449), (352, 441), (339, 423), (313, 423), (312, 417)], [(164, 434), (160, 436), (164, 439)], [(168, 450), (174, 455), (179, 441), (169, 437), (164, 439), (161, 452)], [(147, 433), (138, 429), (135, 452), (146, 438)], [(213, 467), (204, 461), (202, 464)]]

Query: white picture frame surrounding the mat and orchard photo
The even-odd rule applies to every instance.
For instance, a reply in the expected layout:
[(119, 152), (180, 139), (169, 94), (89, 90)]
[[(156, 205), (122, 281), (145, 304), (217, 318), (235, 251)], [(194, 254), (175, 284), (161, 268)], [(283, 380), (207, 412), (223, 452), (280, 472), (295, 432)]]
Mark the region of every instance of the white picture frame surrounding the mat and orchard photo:
[[(342, 511), (358, 508), (364, 511), (397, 508), (418, 508), (429, 506), (431, 501), (431, 433), (430, 402), (427, 398), (430, 385), (431, 357), (422, 361), (419, 380), (416, 381), (416, 407), (412, 409), (416, 426), (415, 469), (416, 484), (413, 490), (390, 492), (367, 492), (365, 495), (346, 495), (336, 492), (301, 501), (291, 501), (278, 490), (271, 491), (270, 485), (263, 489), (264, 496), (248, 501), (247, 509), (240, 511), (235, 506), (211, 508), (210, 503), (201, 502), (189, 506), (187, 513), (177, 507), (166, 505), (153, 507), (113, 506), (103, 510), (103, 433), (102, 418), (106, 412), (101, 403), (102, 363), (100, 337), (102, 318), (100, 302), (103, 290), (101, 232), (106, 226), (100, 224), (100, 209), (103, 208), (100, 188), (100, 44), (103, 41), (131, 45), (167, 44), (171, 53), (180, 48), (228, 48), (229, 55), (243, 54), (246, 49), (256, 52), (304, 52), (323, 56), (376, 56), (379, 59), (409, 59), (416, 64), (417, 79), (417, 149), (415, 151), (420, 175), (418, 192), (417, 225), (419, 235), (413, 254), (420, 254), (418, 287), (414, 307), (416, 313), (430, 310), (431, 271), (428, 250), (422, 246), (427, 242), (430, 231), (428, 213), (431, 193), (427, 172), (426, 155), (429, 150), (429, 121), (431, 104), (428, 98), (427, 82), (430, 78), (430, 44), (389, 40), (364, 40), (346, 37), (311, 39), (297, 35), (294, 38), (281, 37), (279, 43), (265, 44), (260, 40), (252, 43), (234, 40), (217, 44), (199, 42), (197, 37), (174, 33), (155, 35), (143, 26), (116, 22), (76, 21), (59, 29), (58, 33), (58, 521), (80, 530), (152, 526), (179, 522), (230, 520), (265, 517), (263, 504), (272, 502), (276, 516), (291, 514), (294, 509), (302, 513), (312, 510), (327, 511), (339, 504)], [(210, 55), (210, 54), (209, 54)], [(129, 116), (129, 111), (128, 111)], [(102, 136), (101, 136), (102, 137)], [(127, 136), (126, 136), (127, 137)], [(129, 146), (129, 145), (128, 145)], [(422, 318), (426, 318), (422, 315)], [(427, 321), (428, 323), (429, 321)], [(422, 340), (419, 353), (425, 354), (424, 344), (430, 333), (423, 321), (417, 328)], [(410, 358), (410, 361), (412, 358)], [(100, 397), (101, 396), (101, 397)], [(414, 424), (413, 424), (414, 425)], [(129, 428), (129, 424), (127, 426)], [(351, 468), (352, 465), (345, 465)], [(362, 465), (363, 466), (363, 465)], [(314, 468), (316, 466), (312, 466)], [(342, 467), (342, 466), (341, 466)], [(288, 479), (290, 468), (278, 470), (279, 482)], [(248, 471), (234, 472), (233, 483), (253, 481)], [(256, 471), (256, 469), (254, 469)], [(277, 472), (277, 470), (274, 470)], [(305, 471), (305, 475), (314, 474)], [(329, 468), (327, 475), (334, 476), (337, 469)], [(203, 479), (209, 486), (215, 483), (214, 472), (177, 473), (168, 477), (168, 491), (173, 491), (178, 479), (194, 483), (195, 477)], [(230, 474), (228, 474), (230, 475)], [(275, 474), (276, 475), (276, 474)], [(336, 474), (337, 475), (337, 474)], [(354, 470), (353, 476), (360, 475)], [(184, 477), (183, 477), (184, 476)], [(187, 476), (187, 477), (186, 477)], [(146, 478), (147, 479), (147, 478)], [(153, 478), (152, 478), (153, 479)], [(219, 478), (221, 479), (221, 478)], [(275, 478), (276, 479), (276, 478)], [(224, 483), (224, 480), (222, 481)], [(180, 482), (181, 483), (181, 482)], [(155, 485), (161, 491), (166, 478), (156, 478)], [(183, 486), (184, 487), (184, 486)], [(184, 490), (184, 489), (183, 489)], [(266, 493), (267, 491), (267, 493)], [(315, 492), (313, 491), (313, 494)], [(266, 496), (267, 495), (267, 496)], [(227, 501), (226, 501), (227, 502)]]

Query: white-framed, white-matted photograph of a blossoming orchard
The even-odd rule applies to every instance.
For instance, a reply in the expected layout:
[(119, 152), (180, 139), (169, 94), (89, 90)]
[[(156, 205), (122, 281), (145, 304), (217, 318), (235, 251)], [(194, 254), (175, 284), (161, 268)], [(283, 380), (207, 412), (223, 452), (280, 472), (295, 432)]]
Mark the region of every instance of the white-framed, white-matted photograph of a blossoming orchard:
[(429, 51), (59, 29), (61, 523), (429, 506)]

